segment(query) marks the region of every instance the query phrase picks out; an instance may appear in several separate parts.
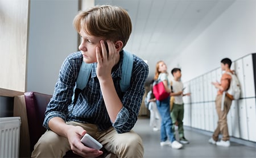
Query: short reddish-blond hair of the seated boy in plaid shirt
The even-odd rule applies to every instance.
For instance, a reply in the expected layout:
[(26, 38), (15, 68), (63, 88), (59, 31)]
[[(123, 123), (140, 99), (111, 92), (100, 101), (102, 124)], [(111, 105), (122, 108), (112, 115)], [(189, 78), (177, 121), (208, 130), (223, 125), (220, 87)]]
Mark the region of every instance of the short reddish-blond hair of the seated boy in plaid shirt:
[(86, 34), (108, 40), (121, 40), (125, 47), (131, 34), (131, 19), (125, 9), (117, 6), (95, 6), (80, 11), (73, 20), (77, 32), (83, 29)]

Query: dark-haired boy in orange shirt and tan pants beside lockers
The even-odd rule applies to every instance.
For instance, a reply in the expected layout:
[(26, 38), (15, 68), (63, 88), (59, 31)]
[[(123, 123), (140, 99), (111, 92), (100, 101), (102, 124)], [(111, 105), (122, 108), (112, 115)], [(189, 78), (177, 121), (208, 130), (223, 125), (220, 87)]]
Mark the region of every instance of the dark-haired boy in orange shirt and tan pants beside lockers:
[[(230, 70), (230, 66), (232, 64), (232, 61), (228, 58), (224, 58), (221, 60), (221, 69), (225, 71), (225, 73), (221, 76), (221, 82), (212, 82), (212, 84), (215, 86), (215, 88), (218, 89), (217, 97), (215, 100), (216, 104), (216, 111), (218, 114), (218, 126), (216, 127), (215, 131), (213, 132), (212, 138), (209, 139), (209, 143), (229, 147), (229, 130), (228, 130), (228, 123), (226, 120), (226, 117), (229, 113), (229, 109), (232, 103), (233, 96), (226, 93), (225, 99), (224, 99), (224, 110), (221, 110), (221, 101), (222, 101), (222, 94), (224, 91), (229, 89), (230, 81), (232, 79), (232, 76), (226, 72), (230, 72), (233, 74), (233, 71)], [(218, 141), (218, 135), (222, 134), (222, 139), (220, 142)]]

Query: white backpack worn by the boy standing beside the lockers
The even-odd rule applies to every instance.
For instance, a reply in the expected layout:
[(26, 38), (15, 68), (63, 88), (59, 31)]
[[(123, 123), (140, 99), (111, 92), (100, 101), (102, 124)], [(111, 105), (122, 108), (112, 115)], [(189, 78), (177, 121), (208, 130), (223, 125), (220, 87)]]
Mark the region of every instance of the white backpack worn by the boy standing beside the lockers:
[(237, 100), (240, 98), (240, 94), (241, 94), (240, 82), (236, 74), (232, 74), (230, 72), (226, 72), (226, 73), (228, 73), (232, 77), (230, 81), (229, 89), (226, 91), (226, 93), (232, 95), (234, 100)]

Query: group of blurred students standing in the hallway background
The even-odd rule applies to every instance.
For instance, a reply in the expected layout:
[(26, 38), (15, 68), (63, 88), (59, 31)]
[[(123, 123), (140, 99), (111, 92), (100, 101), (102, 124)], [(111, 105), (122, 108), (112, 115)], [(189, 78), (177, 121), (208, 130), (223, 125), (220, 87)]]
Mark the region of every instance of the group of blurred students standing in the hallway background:
[[(217, 89), (215, 102), (218, 115), (218, 123), (216, 129), (213, 132), (213, 136), (209, 139), (208, 142), (223, 147), (230, 146), (227, 115), (234, 98), (232, 95), (226, 92), (231, 86), (230, 82), (232, 81), (232, 74), (234, 74), (234, 71), (230, 70), (231, 65), (232, 61), (229, 58), (222, 59), (221, 70), (224, 71), (224, 73), (221, 76), (221, 80), (220, 82), (212, 82), (212, 85), (214, 85), (214, 87)], [(150, 86), (151, 90), (148, 92), (144, 103), (145, 105), (148, 105), (147, 107), (150, 110), (150, 126), (153, 127), (154, 131), (159, 129), (160, 123), (160, 145), (170, 145), (172, 148), (180, 149), (183, 147), (181, 143), (189, 143), (184, 136), (183, 96), (189, 96), (191, 93), (183, 93), (184, 87), (183, 83), (181, 82), (181, 69), (174, 68), (171, 70), (171, 74), (174, 79), (169, 81), (167, 66), (164, 61), (158, 61), (158, 63), (156, 63), (155, 77)], [(154, 93), (152, 92), (152, 84), (155, 80), (160, 80), (163, 82), (166, 92), (170, 93), (168, 98), (159, 101), (154, 97)], [(171, 96), (174, 96), (174, 103), (172, 107), (170, 107)], [(179, 133), (180, 143), (175, 140), (175, 127)], [(218, 141), (220, 134), (222, 134), (222, 138), (220, 141)]]

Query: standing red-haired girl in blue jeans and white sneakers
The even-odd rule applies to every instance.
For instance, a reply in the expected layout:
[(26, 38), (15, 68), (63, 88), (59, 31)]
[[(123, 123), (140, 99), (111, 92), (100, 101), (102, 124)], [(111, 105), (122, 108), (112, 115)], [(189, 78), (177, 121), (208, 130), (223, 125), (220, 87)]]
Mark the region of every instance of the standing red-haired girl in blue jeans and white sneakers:
[[(162, 81), (166, 92), (171, 93), (167, 66), (163, 61), (158, 61), (158, 63), (156, 63), (154, 80)], [(162, 101), (156, 100), (156, 105), (162, 118), (160, 129), (160, 145), (171, 145), (171, 147), (174, 149), (182, 148), (183, 145), (175, 140), (174, 131), (172, 130), (172, 120), (170, 116), (170, 96), (166, 99), (163, 99)]]

